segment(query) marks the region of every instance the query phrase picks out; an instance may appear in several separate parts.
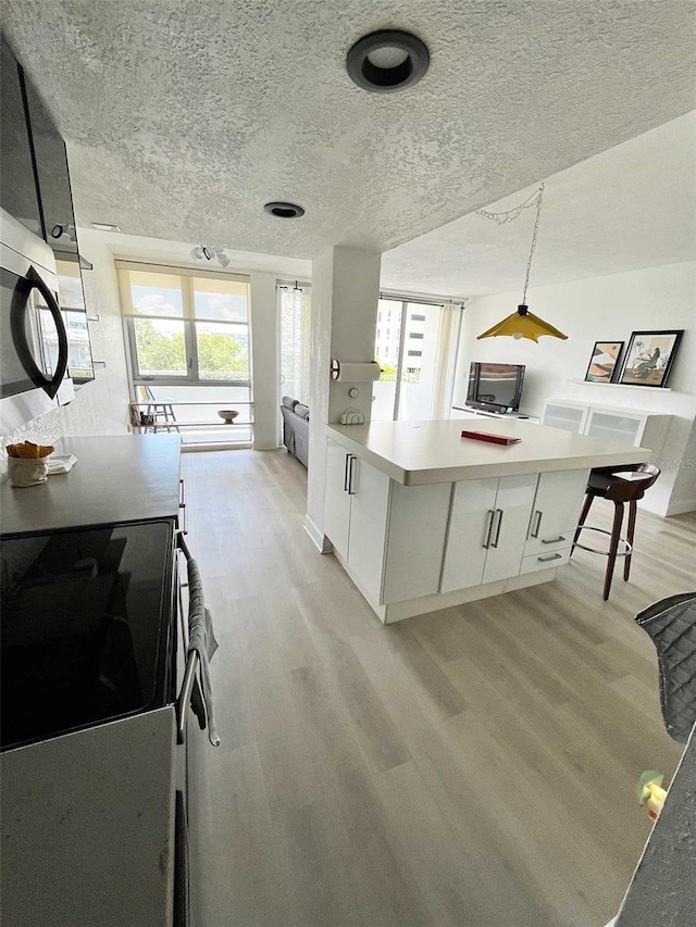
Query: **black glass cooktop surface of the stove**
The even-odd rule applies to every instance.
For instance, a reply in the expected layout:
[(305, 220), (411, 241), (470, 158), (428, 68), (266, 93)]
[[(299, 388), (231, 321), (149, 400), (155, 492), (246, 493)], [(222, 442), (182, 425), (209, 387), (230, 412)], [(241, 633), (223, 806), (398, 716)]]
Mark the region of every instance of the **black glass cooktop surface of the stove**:
[(3, 538), (2, 748), (172, 700), (172, 525)]

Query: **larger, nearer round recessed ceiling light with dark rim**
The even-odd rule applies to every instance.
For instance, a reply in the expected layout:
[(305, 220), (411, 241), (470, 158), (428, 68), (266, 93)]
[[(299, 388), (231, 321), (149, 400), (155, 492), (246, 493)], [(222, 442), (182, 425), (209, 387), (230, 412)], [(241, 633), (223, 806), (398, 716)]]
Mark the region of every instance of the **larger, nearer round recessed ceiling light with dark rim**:
[(431, 63), (427, 47), (411, 33), (377, 29), (352, 46), (346, 57), (350, 79), (373, 93), (394, 93), (412, 87)]

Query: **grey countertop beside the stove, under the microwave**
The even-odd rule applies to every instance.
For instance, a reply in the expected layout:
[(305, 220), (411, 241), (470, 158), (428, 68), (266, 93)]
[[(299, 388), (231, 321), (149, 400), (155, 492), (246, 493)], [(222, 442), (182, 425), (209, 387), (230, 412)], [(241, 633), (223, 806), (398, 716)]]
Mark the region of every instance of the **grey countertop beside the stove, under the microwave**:
[(62, 438), (55, 453), (77, 463), (39, 486), (0, 485), (3, 535), (177, 516), (178, 435)]

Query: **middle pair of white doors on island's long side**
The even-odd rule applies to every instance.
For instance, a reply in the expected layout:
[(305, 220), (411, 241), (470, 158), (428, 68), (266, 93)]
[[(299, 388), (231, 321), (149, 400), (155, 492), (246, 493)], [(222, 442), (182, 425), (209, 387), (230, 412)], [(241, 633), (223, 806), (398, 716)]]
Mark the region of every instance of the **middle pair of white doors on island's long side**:
[(520, 573), (537, 474), (455, 484), (440, 592)]

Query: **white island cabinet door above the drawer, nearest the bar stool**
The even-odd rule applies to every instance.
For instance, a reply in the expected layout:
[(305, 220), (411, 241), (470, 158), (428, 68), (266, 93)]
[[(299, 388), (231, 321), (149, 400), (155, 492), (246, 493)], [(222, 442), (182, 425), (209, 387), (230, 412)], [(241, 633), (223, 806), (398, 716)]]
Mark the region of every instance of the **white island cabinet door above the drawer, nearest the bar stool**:
[(525, 556), (570, 547), (588, 478), (586, 468), (539, 474)]

